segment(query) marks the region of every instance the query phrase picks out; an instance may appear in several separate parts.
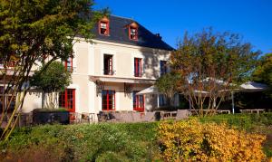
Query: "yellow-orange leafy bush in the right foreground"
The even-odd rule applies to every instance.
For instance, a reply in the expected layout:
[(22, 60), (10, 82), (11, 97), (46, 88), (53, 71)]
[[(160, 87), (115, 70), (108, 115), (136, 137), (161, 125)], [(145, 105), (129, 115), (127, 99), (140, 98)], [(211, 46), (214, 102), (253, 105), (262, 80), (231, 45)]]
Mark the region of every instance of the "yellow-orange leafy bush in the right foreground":
[(161, 157), (166, 161), (262, 161), (265, 136), (197, 119), (159, 125)]

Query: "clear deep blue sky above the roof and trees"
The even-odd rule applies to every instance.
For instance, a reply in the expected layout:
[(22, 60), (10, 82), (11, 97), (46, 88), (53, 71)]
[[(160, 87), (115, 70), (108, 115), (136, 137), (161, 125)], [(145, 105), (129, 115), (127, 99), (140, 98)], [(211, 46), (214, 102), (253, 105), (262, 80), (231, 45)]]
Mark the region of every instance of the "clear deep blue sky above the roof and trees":
[(255, 50), (272, 52), (272, 0), (94, 0), (95, 9), (133, 18), (173, 47), (185, 31), (212, 26), (240, 33)]

